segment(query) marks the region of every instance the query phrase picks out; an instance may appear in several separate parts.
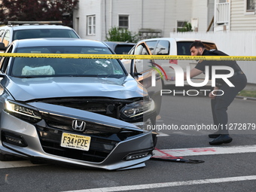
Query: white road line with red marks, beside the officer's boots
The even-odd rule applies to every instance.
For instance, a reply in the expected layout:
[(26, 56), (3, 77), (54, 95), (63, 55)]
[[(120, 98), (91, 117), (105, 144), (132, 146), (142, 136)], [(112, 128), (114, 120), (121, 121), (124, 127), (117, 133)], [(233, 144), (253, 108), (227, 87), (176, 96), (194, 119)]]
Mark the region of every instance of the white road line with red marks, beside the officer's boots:
[(209, 148), (175, 148), (154, 150), (154, 157), (184, 157), (212, 154), (242, 154), (256, 152), (256, 145), (232, 146), (232, 147), (209, 147)]

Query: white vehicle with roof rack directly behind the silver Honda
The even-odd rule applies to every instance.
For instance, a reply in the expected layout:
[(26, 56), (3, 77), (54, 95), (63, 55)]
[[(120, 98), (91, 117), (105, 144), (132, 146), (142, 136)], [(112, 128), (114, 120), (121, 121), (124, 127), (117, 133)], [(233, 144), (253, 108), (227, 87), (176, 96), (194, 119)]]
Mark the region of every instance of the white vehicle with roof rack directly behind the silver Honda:
[(0, 43), (8, 47), (17, 39), (80, 38), (74, 29), (61, 26), (61, 23), (61, 21), (9, 21), (8, 26), (0, 27)]

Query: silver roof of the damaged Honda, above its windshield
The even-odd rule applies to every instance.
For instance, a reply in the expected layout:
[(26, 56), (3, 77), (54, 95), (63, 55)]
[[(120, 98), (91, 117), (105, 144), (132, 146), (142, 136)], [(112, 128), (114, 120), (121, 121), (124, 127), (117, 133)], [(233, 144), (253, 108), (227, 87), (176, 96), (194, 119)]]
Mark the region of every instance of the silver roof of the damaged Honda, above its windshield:
[(41, 47), (41, 46), (91, 46), (106, 47), (101, 41), (87, 40), (81, 38), (30, 38), (15, 40), (13, 44), (17, 47)]

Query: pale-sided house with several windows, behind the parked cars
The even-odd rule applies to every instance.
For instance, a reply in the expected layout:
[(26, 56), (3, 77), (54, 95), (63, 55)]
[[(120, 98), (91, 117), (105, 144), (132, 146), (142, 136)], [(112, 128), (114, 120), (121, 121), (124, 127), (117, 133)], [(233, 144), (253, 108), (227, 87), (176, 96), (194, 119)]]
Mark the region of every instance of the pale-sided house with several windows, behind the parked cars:
[(111, 27), (141, 32), (142, 38), (169, 37), (185, 23), (206, 32), (215, 0), (81, 0), (74, 11), (74, 29), (81, 38), (105, 41)]

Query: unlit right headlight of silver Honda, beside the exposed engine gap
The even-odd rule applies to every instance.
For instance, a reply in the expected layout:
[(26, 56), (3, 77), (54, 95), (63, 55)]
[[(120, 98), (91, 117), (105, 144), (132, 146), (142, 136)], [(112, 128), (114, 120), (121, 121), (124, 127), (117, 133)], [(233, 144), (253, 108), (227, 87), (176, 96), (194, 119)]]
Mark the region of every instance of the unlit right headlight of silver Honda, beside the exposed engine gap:
[(138, 101), (125, 105), (121, 109), (121, 116), (123, 117), (142, 117), (143, 114), (154, 111), (154, 101)]

